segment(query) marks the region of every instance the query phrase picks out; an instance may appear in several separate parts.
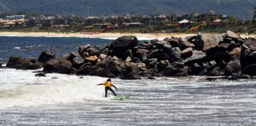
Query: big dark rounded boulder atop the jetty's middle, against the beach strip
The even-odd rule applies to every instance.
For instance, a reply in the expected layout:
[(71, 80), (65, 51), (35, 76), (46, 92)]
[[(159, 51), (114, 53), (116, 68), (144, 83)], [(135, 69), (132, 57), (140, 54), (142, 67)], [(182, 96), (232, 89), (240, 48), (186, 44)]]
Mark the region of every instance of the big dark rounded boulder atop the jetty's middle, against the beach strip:
[(111, 49), (121, 49), (121, 50), (130, 50), (133, 49), (134, 46), (137, 46), (139, 41), (137, 37), (132, 35), (126, 35), (115, 39), (113, 43), (111, 43)]

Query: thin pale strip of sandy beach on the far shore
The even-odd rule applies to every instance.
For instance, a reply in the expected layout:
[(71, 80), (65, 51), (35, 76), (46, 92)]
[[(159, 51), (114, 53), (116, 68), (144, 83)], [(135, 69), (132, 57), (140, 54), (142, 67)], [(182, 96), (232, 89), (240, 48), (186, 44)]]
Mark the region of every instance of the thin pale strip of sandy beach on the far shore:
[[(164, 39), (166, 37), (186, 37), (196, 34), (180, 34), (180, 33), (64, 33), (64, 32), (0, 32), (2, 36), (32, 36), (32, 37), (79, 37), (79, 38), (104, 38), (115, 39), (122, 35), (135, 35), (137, 38), (143, 39)], [(242, 38), (255, 38), (256, 35), (241, 35)]]

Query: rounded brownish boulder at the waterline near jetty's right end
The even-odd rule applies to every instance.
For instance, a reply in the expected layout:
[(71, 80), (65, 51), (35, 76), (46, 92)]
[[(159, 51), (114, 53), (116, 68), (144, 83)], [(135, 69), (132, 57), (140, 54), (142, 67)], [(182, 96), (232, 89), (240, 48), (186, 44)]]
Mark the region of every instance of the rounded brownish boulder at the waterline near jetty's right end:
[(241, 71), (241, 65), (239, 60), (230, 61), (225, 69), (226, 75), (233, 75)]

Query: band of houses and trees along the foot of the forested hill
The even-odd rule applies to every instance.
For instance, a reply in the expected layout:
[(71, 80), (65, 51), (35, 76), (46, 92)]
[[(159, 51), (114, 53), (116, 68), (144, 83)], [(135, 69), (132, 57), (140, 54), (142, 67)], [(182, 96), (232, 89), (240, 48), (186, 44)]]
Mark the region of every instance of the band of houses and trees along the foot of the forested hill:
[[(256, 20), (256, 7), (254, 8), (254, 20)], [(27, 27), (67, 27), (72, 25), (82, 25), (87, 27), (140, 27), (143, 25), (186, 25), (186, 24), (227, 24), (230, 20), (227, 15), (216, 14), (213, 10), (209, 13), (193, 13), (193, 14), (171, 14), (171, 15), (130, 15), (111, 16), (111, 17), (61, 17), (51, 16), (46, 17), (40, 15), (38, 17), (26, 17), (25, 15), (6, 16), (5, 19), (0, 19), (0, 27), (8, 28), (15, 26)]]

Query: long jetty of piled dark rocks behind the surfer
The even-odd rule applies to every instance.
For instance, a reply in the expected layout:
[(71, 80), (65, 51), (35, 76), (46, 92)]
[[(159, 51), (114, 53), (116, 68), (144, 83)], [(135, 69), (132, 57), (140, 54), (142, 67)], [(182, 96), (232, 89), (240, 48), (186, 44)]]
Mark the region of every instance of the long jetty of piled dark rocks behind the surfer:
[(40, 69), (127, 80), (141, 76), (256, 76), (256, 39), (242, 39), (232, 31), (222, 35), (198, 34), (139, 43), (122, 36), (108, 46), (81, 45), (78, 51), (55, 57), (45, 50), (38, 60), (10, 57), (7, 68)]

